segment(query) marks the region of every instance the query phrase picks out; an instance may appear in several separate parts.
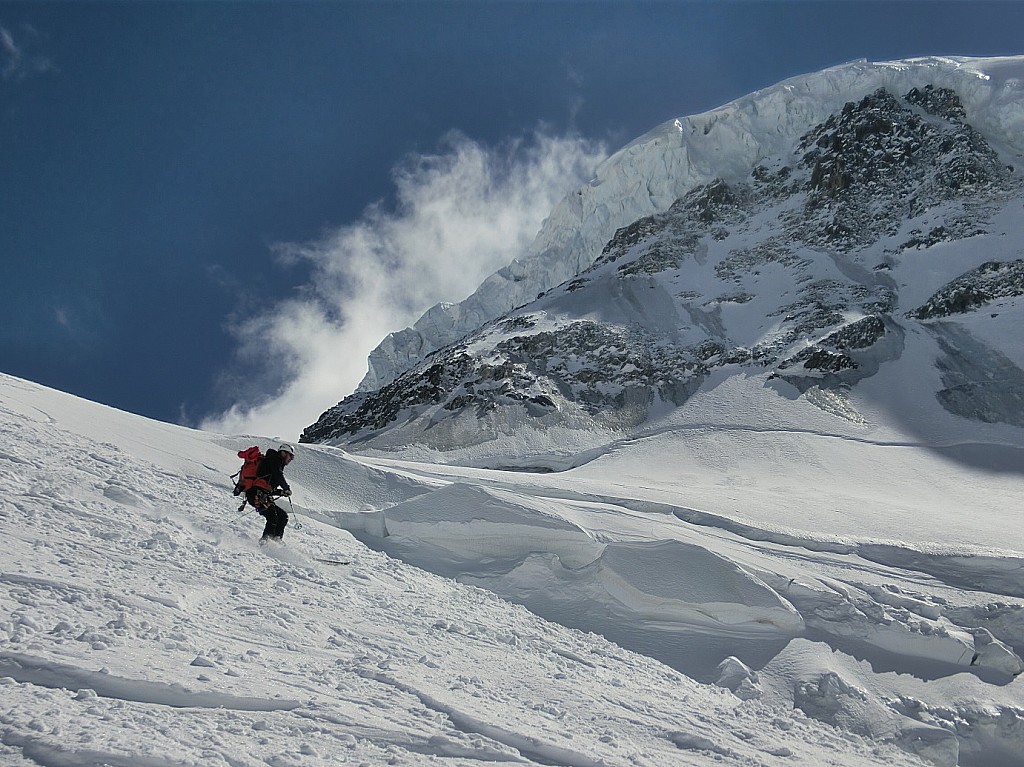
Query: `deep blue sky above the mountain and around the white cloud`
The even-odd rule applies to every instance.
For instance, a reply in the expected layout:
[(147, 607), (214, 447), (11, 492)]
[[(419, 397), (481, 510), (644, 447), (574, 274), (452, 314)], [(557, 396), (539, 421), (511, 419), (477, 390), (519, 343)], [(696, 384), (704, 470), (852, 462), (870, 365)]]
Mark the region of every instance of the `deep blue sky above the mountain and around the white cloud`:
[(198, 421), (264, 380), (228, 323), (309, 280), (271, 246), (386, 205), (453, 129), (614, 150), (854, 58), (1021, 53), (1021, 30), (1015, 2), (0, 2), (0, 371)]

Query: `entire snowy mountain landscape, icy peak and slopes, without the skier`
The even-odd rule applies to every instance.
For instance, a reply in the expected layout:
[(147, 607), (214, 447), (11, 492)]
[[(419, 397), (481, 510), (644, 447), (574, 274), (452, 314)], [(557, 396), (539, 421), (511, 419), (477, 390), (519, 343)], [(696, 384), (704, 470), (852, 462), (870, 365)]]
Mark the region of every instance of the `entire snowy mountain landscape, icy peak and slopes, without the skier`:
[(273, 442), (0, 374), (0, 764), (1024, 767), (1022, 82), (626, 147), (307, 430), (284, 546)]

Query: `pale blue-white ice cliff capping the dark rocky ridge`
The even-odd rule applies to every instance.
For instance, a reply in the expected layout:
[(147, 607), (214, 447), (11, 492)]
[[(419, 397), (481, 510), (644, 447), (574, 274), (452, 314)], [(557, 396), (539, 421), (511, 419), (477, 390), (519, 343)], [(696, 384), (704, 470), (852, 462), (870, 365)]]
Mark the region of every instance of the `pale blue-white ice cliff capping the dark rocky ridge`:
[[(879, 89), (909, 93), (923, 113), (973, 125), (1019, 152), (1024, 148), (1022, 70), (1021, 57), (856, 61), (667, 122), (609, 158), (591, 183), (568, 195), (522, 258), (465, 301), (439, 304), (412, 328), (388, 336), (371, 353), (359, 390), (384, 386), (430, 352), (571, 279), (594, 262), (616, 229), (668, 210), (715, 178), (746, 177), (765, 158), (788, 151), (808, 127)], [(912, 135), (905, 137), (912, 146)], [(970, 134), (962, 140), (970, 142)], [(951, 170), (970, 173), (967, 166)], [(835, 191), (843, 183), (840, 168), (823, 163), (819, 173), (823, 190)]]

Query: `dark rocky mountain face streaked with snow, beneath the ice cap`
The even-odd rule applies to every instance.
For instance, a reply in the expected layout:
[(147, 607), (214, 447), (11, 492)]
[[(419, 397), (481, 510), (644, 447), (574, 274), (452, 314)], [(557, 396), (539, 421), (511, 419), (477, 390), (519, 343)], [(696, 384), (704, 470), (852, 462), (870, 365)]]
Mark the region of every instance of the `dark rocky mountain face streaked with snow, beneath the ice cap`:
[[(542, 282), (568, 275), (391, 380), (365, 382), (302, 440), (451, 451), (554, 428), (571, 452), (685, 412), (733, 376), (852, 426), (865, 424), (851, 398), (861, 381), (906, 389), (932, 376), (931, 391), (910, 396), (955, 419), (1024, 427), (1024, 184), (1014, 136), (992, 129), (1019, 119), (1024, 98), (975, 110), (983, 131), (964, 95), (977, 100), (979, 86), (937, 84), (950, 79), (941, 66), (910, 69), (936, 82), (878, 87), (797, 132), (791, 116), (782, 144), (724, 144), (711, 166), (721, 173), (620, 226), (583, 262), (539, 268)], [(735, 136), (730, 118), (749, 121), (733, 113), (772, 97), (706, 119), (705, 135)], [(762, 153), (739, 175), (752, 143)], [(666, 185), (651, 180), (634, 197)], [(920, 375), (908, 378), (908, 365)]]

